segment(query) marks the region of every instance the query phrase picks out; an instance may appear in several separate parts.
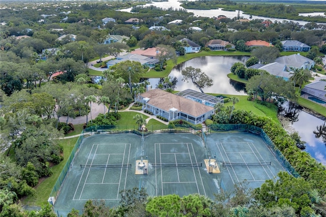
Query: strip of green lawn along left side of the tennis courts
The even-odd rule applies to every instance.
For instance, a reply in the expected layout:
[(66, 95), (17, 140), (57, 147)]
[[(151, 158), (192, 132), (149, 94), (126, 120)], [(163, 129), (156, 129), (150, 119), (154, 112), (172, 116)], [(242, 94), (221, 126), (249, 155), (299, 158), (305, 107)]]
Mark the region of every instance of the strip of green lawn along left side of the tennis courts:
[(23, 204), (30, 205), (30, 206), (42, 206), (47, 203), (47, 199), (50, 196), (50, 193), (52, 191), (53, 186), (55, 186), (55, 183), (57, 182), (57, 179), (63, 169), (63, 167), (66, 165), (66, 161), (69, 158), (69, 155), (75, 146), (75, 143), (77, 141), (78, 137), (71, 138), (71, 139), (64, 139), (60, 140), (60, 144), (64, 147), (64, 160), (60, 162), (60, 164), (52, 167), (52, 176), (40, 180), (43, 180), (41, 183), (39, 183), (35, 189), (36, 194), (34, 196), (26, 197), (22, 202)]

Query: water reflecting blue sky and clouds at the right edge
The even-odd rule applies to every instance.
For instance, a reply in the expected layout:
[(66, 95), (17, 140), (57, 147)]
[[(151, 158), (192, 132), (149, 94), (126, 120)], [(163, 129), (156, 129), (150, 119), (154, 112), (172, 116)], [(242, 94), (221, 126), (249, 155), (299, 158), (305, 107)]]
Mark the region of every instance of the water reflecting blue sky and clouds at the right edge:
[(297, 105), (289, 105), (288, 107), (283, 108), (282, 114), (290, 118), (291, 127), (298, 132), (301, 140), (306, 142), (306, 149), (304, 151), (308, 152), (318, 162), (326, 165), (325, 144), (321, 138), (316, 138), (313, 133), (313, 131), (317, 130), (317, 127), (322, 125), (324, 121), (300, 110), (300, 106)]

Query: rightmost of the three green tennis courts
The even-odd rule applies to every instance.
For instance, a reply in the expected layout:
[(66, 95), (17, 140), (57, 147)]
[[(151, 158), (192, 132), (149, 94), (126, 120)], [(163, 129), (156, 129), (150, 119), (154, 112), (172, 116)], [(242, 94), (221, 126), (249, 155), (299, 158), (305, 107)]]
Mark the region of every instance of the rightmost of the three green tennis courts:
[(206, 144), (219, 164), (219, 183), (226, 191), (232, 192), (234, 184), (247, 183), (251, 188), (260, 187), (267, 179), (276, 181), (277, 174), (284, 171), (259, 135), (211, 133), (207, 135)]

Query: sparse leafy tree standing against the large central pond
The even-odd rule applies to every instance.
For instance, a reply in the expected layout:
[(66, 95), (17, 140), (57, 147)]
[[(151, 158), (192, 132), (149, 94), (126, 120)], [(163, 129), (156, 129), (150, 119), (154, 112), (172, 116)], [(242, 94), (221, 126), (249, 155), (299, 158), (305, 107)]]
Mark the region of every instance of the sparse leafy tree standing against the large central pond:
[(188, 82), (188, 79), (191, 79), (193, 84), (202, 92), (205, 87), (211, 87), (213, 85), (212, 78), (208, 77), (205, 72), (202, 72), (199, 68), (194, 68), (192, 66), (188, 66), (181, 71), (183, 75), (182, 80), (184, 82)]

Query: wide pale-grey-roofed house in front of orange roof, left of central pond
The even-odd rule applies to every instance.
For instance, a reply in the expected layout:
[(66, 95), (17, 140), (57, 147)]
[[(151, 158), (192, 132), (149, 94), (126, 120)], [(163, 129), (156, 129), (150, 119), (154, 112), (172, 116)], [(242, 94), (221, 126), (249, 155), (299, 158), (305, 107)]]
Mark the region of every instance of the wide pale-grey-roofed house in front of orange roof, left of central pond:
[(123, 56), (118, 56), (116, 57), (115, 60), (110, 60), (106, 62), (106, 67), (110, 68), (111, 66), (123, 62), (123, 61), (135, 61), (135, 62), (140, 62), (143, 66), (148, 66), (150, 68), (154, 68), (155, 64), (157, 64), (159, 61), (157, 59), (151, 59), (149, 57), (145, 57), (142, 55), (137, 55), (137, 54), (133, 54), (133, 53), (129, 53), (127, 55), (123, 55)]

